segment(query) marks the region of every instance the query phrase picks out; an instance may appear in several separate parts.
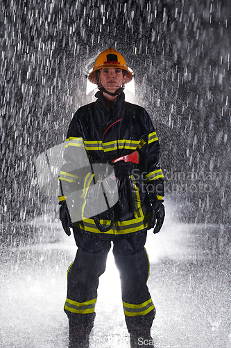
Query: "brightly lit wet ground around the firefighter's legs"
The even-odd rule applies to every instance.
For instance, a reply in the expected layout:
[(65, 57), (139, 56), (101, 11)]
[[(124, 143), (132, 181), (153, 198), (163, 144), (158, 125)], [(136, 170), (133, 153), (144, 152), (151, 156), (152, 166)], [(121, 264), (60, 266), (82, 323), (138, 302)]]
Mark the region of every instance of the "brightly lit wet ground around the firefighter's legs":
[[(76, 247), (58, 221), (46, 217), (33, 224), (35, 229), (24, 226), (24, 239), (9, 231), (0, 249), (0, 347), (64, 348), (66, 272)], [(166, 221), (158, 235), (148, 232), (156, 348), (231, 347), (228, 232), (228, 227), (172, 221)], [(6, 241), (6, 231), (1, 239), (4, 233)], [(90, 347), (129, 347), (112, 253), (101, 276)]]

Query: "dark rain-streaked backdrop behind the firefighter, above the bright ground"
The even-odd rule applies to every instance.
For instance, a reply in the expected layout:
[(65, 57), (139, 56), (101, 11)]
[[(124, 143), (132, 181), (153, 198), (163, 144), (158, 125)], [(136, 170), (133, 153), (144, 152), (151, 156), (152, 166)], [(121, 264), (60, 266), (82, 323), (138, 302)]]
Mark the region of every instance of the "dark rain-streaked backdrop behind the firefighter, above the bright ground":
[(35, 159), (65, 140), (108, 47), (135, 72), (180, 221), (230, 224), (229, 1), (1, 1), (1, 221), (52, 211)]

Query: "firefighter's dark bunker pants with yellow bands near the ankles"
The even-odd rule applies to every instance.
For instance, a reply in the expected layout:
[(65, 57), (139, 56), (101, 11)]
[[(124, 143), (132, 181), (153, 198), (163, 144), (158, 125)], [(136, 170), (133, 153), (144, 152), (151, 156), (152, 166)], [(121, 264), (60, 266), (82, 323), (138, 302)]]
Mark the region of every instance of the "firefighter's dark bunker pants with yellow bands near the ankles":
[(65, 313), (69, 325), (90, 333), (94, 324), (99, 277), (105, 271), (113, 242), (115, 264), (121, 279), (123, 311), (129, 333), (148, 331), (155, 318), (155, 306), (146, 282), (149, 275), (148, 255), (144, 248), (146, 232), (101, 240), (82, 235), (74, 228), (78, 246), (76, 258), (67, 273)]

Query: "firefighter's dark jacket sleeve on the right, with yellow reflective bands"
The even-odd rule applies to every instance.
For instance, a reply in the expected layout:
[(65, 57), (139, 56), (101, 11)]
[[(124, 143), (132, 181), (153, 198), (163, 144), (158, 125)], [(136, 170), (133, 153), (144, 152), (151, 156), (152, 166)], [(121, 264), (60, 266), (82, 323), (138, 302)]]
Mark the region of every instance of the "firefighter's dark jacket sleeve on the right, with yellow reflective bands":
[(161, 200), (164, 196), (164, 175), (158, 166), (160, 143), (148, 113), (144, 111), (146, 134), (141, 148), (140, 168), (146, 189), (152, 200)]

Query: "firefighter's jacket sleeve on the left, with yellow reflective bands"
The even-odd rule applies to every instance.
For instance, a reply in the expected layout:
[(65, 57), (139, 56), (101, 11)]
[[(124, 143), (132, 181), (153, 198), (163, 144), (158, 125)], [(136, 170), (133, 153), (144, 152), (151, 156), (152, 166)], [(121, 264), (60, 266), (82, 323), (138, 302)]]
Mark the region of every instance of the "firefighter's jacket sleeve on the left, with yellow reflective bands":
[(80, 122), (78, 122), (78, 111), (69, 125), (64, 159), (66, 163), (61, 167), (59, 176), (60, 201), (65, 200), (74, 191), (89, 187), (94, 177), (85, 150), (83, 132), (81, 131)]

